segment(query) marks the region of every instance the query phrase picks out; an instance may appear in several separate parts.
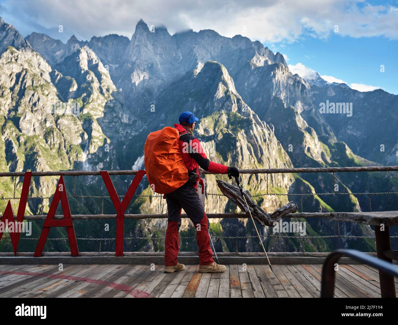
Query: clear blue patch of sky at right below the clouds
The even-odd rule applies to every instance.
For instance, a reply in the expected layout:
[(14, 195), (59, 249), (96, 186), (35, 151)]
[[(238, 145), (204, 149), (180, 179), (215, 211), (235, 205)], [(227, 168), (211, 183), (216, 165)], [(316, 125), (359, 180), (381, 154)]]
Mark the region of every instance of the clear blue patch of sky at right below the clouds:
[[(275, 43), (270, 48), (285, 54), (290, 66), (302, 63), (320, 75), (333, 76), (348, 85), (373, 85), (398, 94), (396, 40), (340, 35), (316, 39), (307, 36), (290, 44)], [(384, 65), (384, 72), (380, 72), (381, 65)]]

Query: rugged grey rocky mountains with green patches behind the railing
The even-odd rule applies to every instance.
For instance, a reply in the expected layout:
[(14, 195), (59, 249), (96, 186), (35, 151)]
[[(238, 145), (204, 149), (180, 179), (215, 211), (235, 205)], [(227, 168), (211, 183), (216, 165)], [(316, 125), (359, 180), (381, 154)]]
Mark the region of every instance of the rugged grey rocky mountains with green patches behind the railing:
[[(139, 21), (131, 39), (119, 35), (92, 37), (64, 44), (45, 34), (25, 40), (0, 20), (1, 171), (21, 170), (123, 170), (143, 168), (143, 148), (149, 132), (177, 122), (179, 112), (190, 110), (200, 118), (195, 133), (210, 159), (239, 168), (366, 166), (397, 164), (397, 98), (378, 90), (359, 93), (341, 84), (308, 82), (293, 75), (279, 52), (260, 42), (215, 31), (188, 30), (170, 35), (165, 27), (148, 29)], [(320, 104), (352, 103), (352, 115), (323, 114)], [(349, 106), (347, 106), (349, 107)], [(383, 129), (384, 132), (379, 132)], [(380, 151), (384, 145), (384, 151)], [(377, 151), (379, 150), (379, 151)], [(4, 157), (4, 158), (3, 158)], [(340, 193), (397, 192), (394, 173), (341, 173)], [(361, 173), (365, 174), (365, 173)], [(226, 176), (217, 178), (228, 181)], [(334, 191), (332, 175), (270, 174), (269, 192), (255, 197), (266, 211), (286, 199), (315, 211), (369, 211), (367, 195), (317, 195)], [(206, 192), (220, 193), (216, 176), (206, 176)], [(2, 197), (13, 191), (13, 180), (1, 184)], [(95, 176), (76, 178), (76, 195), (106, 193)], [(113, 178), (118, 193), (125, 193), (131, 178)], [(32, 196), (52, 195), (56, 179), (33, 180)], [(265, 193), (267, 175), (243, 175), (252, 194)], [(66, 180), (68, 193), (73, 182)], [(21, 179), (17, 180), (17, 190)], [(130, 213), (165, 213), (165, 200), (142, 182), (142, 196)], [(301, 197), (297, 193), (304, 193)], [(396, 195), (373, 195), (376, 210), (396, 210)], [(0, 209), (4, 211), (0, 200)], [(206, 195), (206, 211), (234, 211), (231, 201)], [(29, 200), (31, 213), (48, 208)], [(72, 213), (114, 213), (110, 200), (70, 198)], [(304, 220), (302, 220), (304, 221)], [(307, 235), (336, 234), (337, 222), (306, 220)], [(113, 225), (113, 223), (110, 223)], [(109, 238), (103, 222), (76, 222), (78, 237)], [(114, 227), (111, 226), (114, 234)], [(37, 228), (37, 231), (39, 228)], [(126, 222), (133, 237), (164, 236), (165, 220)], [(245, 220), (213, 220), (211, 231), (223, 236), (254, 235)], [(261, 228), (263, 234), (271, 230)], [(371, 236), (370, 227), (340, 223), (343, 235)], [(181, 235), (193, 228), (184, 221)], [(62, 230), (59, 235), (62, 236)], [(0, 247), (5, 241), (0, 242)], [(302, 240), (269, 237), (271, 251), (301, 251)], [(68, 250), (65, 243), (48, 243), (49, 250)], [(128, 242), (126, 250), (163, 250), (160, 240)], [(194, 251), (195, 240), (181, 243)], [(217, 250), (234, 251), (234, 240), (217, 240)], [(9, 246), (9, 244), (8, 244)], [(7, 247), (8, 247), (7, 246)], [(81, 250), (96, 250), (83, 241)], [(351, 247), (373, 250), (368, 239), (319, 238), (306, 240), (306, 251)], [(10, 248), (10, 247), (8, 247)], [(31, 250), (29, 247), (23, 249)], [(240, 240), (239, 251), (259, 251), (255, 241)], [(102, 243), (114, 250), (114, 242)]]

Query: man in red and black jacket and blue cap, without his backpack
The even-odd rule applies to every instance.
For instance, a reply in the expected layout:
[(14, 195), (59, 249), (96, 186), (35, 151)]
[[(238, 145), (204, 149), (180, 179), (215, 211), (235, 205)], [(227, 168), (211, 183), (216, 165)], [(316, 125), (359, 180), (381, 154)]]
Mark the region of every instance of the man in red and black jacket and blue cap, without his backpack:
[[(210, 248), (209, 221), (197, 193), (198, 181), (203, 185), (199, 176), (199, 166), (218, 174), (231, 174), (239, 176), (238, 169), (209, 161), (199, 140), (193, 135), (193, 129), (199, 119), (191, 112), (182, 112), (179, 123), (174, 127), (179, 132), (179, 146), (185, 166), (188, 169), (188, 181), (174, 192), (166, 194), (168, 225), (164, 245), (164, 272), (172, 273), (182, 271), (185, 265), (178, 263), (179, 252), (179, 227), (181, 226), (181, 209), (187, 213), (196, 228), (196, 239), (199, 247), (199, 272), (219, 273), (226, 267), (213, 261), (213, 251)], [(202, 186), (203, 191), (203, 186)], [(203, 192), (202, 192), (203, 193)]]

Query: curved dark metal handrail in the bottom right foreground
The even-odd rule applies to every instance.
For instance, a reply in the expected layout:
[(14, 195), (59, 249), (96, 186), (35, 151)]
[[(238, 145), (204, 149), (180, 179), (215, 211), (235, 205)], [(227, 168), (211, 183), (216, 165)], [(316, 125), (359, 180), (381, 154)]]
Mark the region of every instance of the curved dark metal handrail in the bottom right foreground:
[[(357, 250), (332, 251), (332, 253), (330, 253), (328, 257), (326, 257), (325, 263), (322, 267), (321, 298), (334, 297), (334, 282), (336, 278), (334, 265), (343, 255), (351, 257), (353, 259), (356, 259), (357, 261), (373, 266), (378, 270), (398, 277), (398, 267), (394, 266), (392, 263), (383, 261), (382, 259), (372, 257), (366, 253), (362, 253), (361, 251)], [(395, 288), (393, 290), (395, 292)]]

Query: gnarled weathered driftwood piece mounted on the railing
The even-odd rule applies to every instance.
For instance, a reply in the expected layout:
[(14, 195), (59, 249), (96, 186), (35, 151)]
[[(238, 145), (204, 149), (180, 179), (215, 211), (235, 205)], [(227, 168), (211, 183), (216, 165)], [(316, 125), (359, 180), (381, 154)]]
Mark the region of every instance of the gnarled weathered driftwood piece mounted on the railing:
[[(220, 188), (222, 194), (226, 197), (230, 198), (235, 204), (240, 207), (242, 211), (249, 213), (246, 203), (240, 194), (240, 190), (238, 187), (228, 184), (226, 182), (222, 182), (221, 180), (217, 180), (217, 186)], [(246, 198), (246, 202), (249, 205), (250, 212), (252, 213), (253, 219), (256, 220), (261, 226), (272, 226), (273, 222), (278, 222), (279, 219), (283, 218), (284, 215), (288, 213), (295, 213), (297, 211), (297, 205), (293, 201), (287, 203), (283, 207), (277, 209), (275, 212), (269, 214), (261, 209), (256, 202), (252, 200), (250, 197), (250, 193), (247, 190), (243, 190), (243, 194)]]

